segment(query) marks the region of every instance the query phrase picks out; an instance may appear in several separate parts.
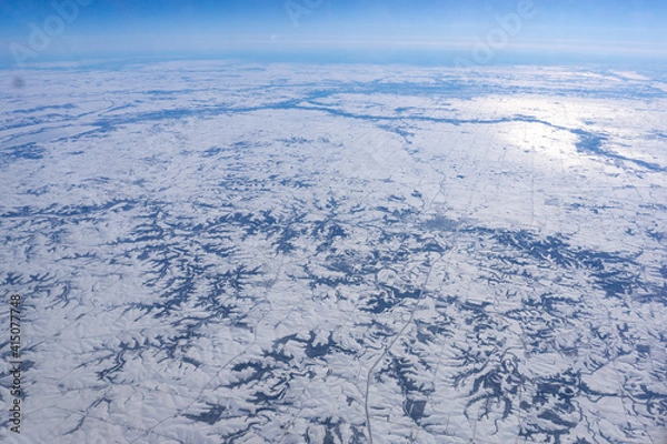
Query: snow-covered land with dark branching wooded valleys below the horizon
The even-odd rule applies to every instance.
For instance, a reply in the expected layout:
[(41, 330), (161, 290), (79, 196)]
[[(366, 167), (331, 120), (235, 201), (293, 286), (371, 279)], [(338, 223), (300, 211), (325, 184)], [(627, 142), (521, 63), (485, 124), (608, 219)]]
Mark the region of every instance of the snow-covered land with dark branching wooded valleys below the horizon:
[(664, 73), (2, 75), (0, 441), (667, 440)]

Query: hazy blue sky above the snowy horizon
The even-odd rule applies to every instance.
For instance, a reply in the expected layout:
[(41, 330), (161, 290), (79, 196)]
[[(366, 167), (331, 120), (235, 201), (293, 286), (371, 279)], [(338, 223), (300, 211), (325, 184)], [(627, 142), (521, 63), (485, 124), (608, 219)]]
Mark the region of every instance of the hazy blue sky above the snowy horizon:
[(0, 0), (0, 60), (657, 60), (667, 58), (666, 23), (664, 0)]

